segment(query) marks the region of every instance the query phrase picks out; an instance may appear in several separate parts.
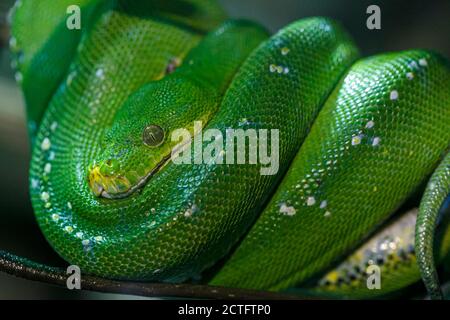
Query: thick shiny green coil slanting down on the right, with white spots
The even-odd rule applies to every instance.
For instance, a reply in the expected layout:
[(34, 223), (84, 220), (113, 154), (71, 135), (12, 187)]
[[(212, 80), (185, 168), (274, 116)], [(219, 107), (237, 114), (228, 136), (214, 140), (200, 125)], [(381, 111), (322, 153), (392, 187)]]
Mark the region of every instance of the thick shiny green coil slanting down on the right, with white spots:
[(212, 283), (280, 290), (355, 247), (437, 166), (450, 141), (449, 86), (448, 62), (427, 51), (354, 64)]

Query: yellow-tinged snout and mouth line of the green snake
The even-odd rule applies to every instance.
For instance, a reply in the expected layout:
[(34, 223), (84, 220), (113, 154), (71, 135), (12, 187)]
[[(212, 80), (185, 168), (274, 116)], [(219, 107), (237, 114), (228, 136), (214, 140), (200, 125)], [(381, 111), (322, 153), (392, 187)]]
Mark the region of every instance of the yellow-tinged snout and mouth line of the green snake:
[(99, 198), (127, 198), (142, 189), (168, 163), (170, 158), (170, 155), (165, 156), (156, 166), (142, 176), (139, 176), (134, 171), (128, 176), (123, 174), (105, 174), (102, 173), (101, 165), (94, 165), (89, 169), (89, 187)]

